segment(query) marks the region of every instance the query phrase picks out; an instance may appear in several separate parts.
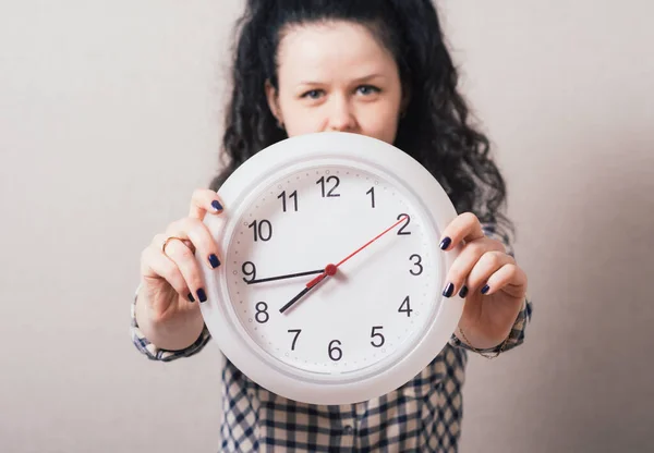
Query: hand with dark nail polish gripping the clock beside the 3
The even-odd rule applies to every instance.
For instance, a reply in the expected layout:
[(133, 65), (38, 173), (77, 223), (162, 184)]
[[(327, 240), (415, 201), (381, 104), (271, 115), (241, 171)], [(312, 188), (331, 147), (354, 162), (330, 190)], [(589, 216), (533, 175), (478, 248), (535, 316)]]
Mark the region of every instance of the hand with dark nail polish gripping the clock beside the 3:
[(475, 215), (458, 216), (443, 232), (440, 248), (462, 248), (443, 294), (465, 298), (459, 340), (477, 350), (495, 347), (509, 335), (526, 295), (526, 274), (504, 244), (486, 237)]

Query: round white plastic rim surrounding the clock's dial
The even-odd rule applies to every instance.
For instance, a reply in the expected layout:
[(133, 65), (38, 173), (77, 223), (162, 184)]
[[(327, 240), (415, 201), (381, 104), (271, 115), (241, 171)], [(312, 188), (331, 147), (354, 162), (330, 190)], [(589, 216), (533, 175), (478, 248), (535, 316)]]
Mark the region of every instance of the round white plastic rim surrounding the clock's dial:
[[(226, 207), (220, 216), (206, 216), (205, 224), (217, 241), (220, 254), (226, 256), (230, 233), (241, 221), (240, 211), (255, 187), (269, 182), (280, 169), (293, 171), (306, 162), (330, 162), (339, 159), (356, 161), (363, 168), (382, 169), (391, 174), (422, 201), (422, 208), (431, 217), (435, 231), (443, 229), (457, 212), (440, 184), (417, 161), (385, 142), (363, 135), (327, 132), (301, 135), (261, 150), (241, 167), (219, 188), (218, 194)], [(218, 234), (217, 232), (222, 232)], [(436, 242), (437, 244), (437, 242)], [(459, 254), (459, 248), (443, 252), (429, 250), (439, 257), (441, 281), (445, 272)], [(198, 258), (199, 260), (199, 258)], [(417, 375), (446, 345), (455, 331), (463, 310), (463, 299), (440, 296), (438, 310), (434, 314), (424, 335), (411, 350), (379, 374), (365, 379), (339, 379), (338, 374), (329, 378), (310, 377), (293, 367), (280, 363), (263, 352), (250, 338), (233, 313), (227, 291), (228, 278), (225, 266), (208, 270), (201, 264), (208, 299), (201, 304), (205, 323), (211, 336), (226, 355), (250, 379), (281, 396), (311, 404), (349, 404), (371, 400), (386, 394)]]

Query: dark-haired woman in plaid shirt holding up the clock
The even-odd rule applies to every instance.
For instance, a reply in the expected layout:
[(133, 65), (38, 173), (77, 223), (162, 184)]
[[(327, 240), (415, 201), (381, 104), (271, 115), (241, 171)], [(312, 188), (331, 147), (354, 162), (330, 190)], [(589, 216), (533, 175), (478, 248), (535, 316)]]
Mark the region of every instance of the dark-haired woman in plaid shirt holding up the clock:
[[(448, 345), (413, 380), (367, 402), (318, 406), (262, 389), (229, 360), (223, 370), (221, 451), (456, 451), (467, 350), (497, 355), (520, 344), (531, 310), (499, 209), (505, 184), (488, 142), (468, 121), (457, 72), (428, 0), (249, 0), (240, 21), (223, 137), (226, 170), (198, 189), (190, 215), (142, 256), (133, 338), (149, 358), (172, 360), (209, 340), (194, 258), (220, 266), (205, 215), (220, 216), (215, 189), (258, 150), (323, 131), (365, 134), (420, 161), (458, 212), (440, 237), (462, 244), (447, 297), (465, 298)], [(168, 241), (179, 236), (185, 241)], [(162, 244), (166, 243), (166, 247)]]

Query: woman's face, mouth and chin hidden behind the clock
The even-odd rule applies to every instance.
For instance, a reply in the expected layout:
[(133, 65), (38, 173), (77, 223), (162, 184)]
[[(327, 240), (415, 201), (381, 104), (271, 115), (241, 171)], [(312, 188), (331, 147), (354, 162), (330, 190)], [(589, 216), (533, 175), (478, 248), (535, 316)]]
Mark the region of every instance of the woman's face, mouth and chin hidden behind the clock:
[(391, 53), (362, 25), (331, 22), (286, 29), (279, 90), (266, 85), (272, 114), (289, 136), (351, 132), (392, 144), (402, 87)]

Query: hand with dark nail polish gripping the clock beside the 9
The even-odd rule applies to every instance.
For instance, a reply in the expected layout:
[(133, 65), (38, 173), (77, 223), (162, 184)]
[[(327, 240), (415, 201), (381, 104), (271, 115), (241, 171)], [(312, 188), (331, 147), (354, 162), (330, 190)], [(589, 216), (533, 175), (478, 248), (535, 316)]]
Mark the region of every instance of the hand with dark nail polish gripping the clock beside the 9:
[[(222, 205), (216, 192), (197, 189), (191, 198), (189, 217), (168, 225), (157, 234), (141, 256), (141, 292), (153, 323), (184, 318), (206, 301), (206, 290), (195, 252), (209, 269), (220, 266), (218, 246), (203, 223), (204, 217), (219, 215)], [(164, 243), (169, 237), (164, 250)]]

